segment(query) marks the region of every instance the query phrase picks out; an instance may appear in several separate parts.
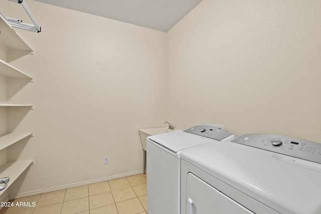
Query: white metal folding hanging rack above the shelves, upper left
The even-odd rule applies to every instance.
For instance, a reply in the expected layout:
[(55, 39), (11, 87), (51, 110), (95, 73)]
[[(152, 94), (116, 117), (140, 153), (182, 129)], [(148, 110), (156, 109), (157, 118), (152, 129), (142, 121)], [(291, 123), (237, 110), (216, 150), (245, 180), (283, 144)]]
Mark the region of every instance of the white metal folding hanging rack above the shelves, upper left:
[(9, 1), (21, 4), (34, 24), (32, 25), (32, 24), (23, 23), (22, 20), (6, 17), (3, 13), (0, 12), (0, 15), (3, 16), (12, 27), (33, 31), (37, 33), (41, 32), (41, 26), (38, 25), (35, 18), (32, 16), (24, 0), (9, 0)]

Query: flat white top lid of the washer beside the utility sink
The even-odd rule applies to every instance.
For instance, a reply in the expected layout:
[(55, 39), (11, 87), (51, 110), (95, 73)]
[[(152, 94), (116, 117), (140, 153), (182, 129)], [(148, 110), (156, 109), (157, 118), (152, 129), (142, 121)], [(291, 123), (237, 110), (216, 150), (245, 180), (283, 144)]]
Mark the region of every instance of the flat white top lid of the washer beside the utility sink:
[(166, 148), (174, 153), (178, 153), (184, 149), (206, 143), (219, 142), (218, 140), (191, 134), (184, 131), (156, 134), (147, 137), (147, 140), (152, 141), (155, 145)]

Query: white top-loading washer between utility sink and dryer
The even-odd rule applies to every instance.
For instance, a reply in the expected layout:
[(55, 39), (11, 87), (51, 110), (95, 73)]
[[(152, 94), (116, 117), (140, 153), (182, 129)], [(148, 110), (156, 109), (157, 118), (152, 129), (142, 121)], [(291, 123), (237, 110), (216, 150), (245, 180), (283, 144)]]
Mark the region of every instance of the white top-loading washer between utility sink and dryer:
[(180, 214), (182, 152), (232, 138), (227, 131), (205, 125), (147, 137), (148, 214)]

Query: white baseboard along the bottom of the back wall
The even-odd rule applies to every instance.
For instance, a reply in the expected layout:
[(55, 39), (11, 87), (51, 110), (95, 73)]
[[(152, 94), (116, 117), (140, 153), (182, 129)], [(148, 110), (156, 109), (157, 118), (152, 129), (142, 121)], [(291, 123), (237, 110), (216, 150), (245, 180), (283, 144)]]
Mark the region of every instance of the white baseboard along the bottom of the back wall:
[(13, 200), (13, 199), (18, 199), (18, 198), (22, 198), (22, 197), (29, 197), (32, 195), (43, 194), (43, 193), (47, 193), (47, 192), (58, 191), (58, 190), (63, 190), (63, 189), (67, 189), (67, 188), (88, 185), (88, 184), (92, 184), (92, 183), (98, 183), (98, 182), (103, 182), (106, 180), (113, 180), (113, 179), (117, 179), (117, 178), (128, 177), (131, 175), (142, 174), (142, 173), (143, 173), (143, 170), (139, 170), (139, 171), (133, 171), (133, 172), (128, 172), (128, 173), (124, 173), (124, 174), (117, 174), (117, 175), (113, 175), (113, 176), (109, 176), (109, 177), (102, 177), (102, 178), (93, 179), (93, 180), (87, 180), (87, 181), (82, 181), (82, 182), (77, 182), (77, 183), (70, 183), (70, 184), (66, 184), (66, 185), (55, 186), (55, 187), (50, 187), (50, 188), (45, 188), (45, 189), (39, 189), (39, 190), (34, 190), (34, 191), (29, 191), (29, 192), (22, 192), (22, 193), (18, 193), (17, 195), (9, 195), (9, 199)]

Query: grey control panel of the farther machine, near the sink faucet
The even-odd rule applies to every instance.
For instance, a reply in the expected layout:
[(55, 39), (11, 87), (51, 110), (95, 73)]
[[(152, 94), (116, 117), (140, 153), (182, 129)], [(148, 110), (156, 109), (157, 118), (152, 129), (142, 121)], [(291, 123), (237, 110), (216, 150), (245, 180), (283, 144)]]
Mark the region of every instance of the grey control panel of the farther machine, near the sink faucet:
[(215, 128), (213, 126), (207, 126), (207, 125), (194, 126), (192, 128), (186, 129), (184, 131), (192, 133), (192, 134), (201, 135), (203, 137), (208, 137), (208, 138), (218, 140), (218, 141), (221, 141), (221, 140), (232, 135), (231, 133), (229, 133), (227, 131), (224, 131), (219, 128)]

